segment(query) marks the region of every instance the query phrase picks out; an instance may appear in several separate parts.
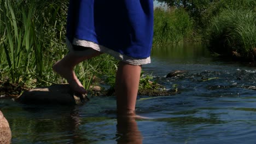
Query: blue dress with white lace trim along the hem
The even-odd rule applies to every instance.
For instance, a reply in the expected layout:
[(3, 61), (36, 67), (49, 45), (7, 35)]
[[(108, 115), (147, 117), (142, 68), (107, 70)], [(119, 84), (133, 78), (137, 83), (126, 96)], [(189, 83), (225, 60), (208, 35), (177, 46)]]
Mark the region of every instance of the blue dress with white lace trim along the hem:
[(153, 0), (71, 0), (66, 37), (71, 44), (91, 47), (122, 61), (147, 59), (140, 64), (149, 63)]

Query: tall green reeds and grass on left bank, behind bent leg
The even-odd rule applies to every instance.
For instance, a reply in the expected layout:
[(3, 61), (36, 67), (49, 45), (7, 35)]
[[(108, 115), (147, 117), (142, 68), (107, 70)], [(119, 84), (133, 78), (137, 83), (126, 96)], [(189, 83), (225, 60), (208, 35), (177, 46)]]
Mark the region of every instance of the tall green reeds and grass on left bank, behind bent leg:
[[(68, 52), (68, 0), (0, 0), (0, 4), (0, 80), (27, 87), (65, 82), (51, 66)], [(116, 63), (113, 57), (100, 56), (79, 64), (75, 73), (89, 88), (94, 75), (102, 71), (112, 75)]]

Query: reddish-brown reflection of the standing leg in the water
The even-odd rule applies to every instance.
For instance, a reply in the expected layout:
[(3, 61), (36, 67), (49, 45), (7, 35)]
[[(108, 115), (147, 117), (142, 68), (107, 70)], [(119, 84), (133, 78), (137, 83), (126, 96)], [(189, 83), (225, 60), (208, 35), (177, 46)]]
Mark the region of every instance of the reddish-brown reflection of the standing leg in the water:
[(117, 143), (142, 143), (143, 138), (138, 130), (135, 117), (118, 116), (117, 122), (117, 134), (119, 136)]

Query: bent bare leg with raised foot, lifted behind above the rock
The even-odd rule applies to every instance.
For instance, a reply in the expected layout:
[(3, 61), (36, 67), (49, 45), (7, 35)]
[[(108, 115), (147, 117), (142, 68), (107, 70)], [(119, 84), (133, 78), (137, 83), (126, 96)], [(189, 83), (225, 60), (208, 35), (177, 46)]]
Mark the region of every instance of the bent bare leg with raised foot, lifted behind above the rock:
[(82, 83), (77, 79), (77, 76), (74, 73), (74, 67), (80, 62), (100, 54), (101, 52), (95, 52), (94, 55), (90, 56), (78, 56), (73, 52), (69, 52), (65, 57), (53, 65), (53, 70), (64, 77), (75, 92), (85, 94), (86, 90)]

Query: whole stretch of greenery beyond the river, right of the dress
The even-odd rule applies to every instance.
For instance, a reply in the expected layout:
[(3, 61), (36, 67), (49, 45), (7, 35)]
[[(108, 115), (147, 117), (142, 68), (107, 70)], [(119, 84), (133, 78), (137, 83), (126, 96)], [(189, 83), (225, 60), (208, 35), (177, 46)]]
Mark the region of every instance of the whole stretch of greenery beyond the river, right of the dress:
[[(167, 5), (168, 8), (155, 9), (155, 44), (203, 41), (218, 55), (236, 56), (248, 61), (256, 60), (254, 58), (256, 1), (158, 0), (158, 2)], [(177, 37), (171, 39), (169, 35)]]

